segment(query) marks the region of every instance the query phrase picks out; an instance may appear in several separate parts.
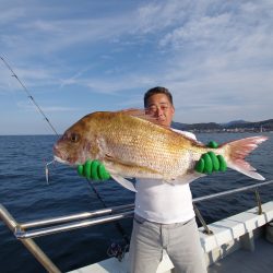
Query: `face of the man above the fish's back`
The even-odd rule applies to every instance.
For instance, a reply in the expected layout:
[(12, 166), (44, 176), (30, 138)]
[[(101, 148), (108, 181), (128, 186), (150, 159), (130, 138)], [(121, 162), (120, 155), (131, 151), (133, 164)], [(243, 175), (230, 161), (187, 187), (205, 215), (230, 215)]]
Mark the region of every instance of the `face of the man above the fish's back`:
[(161, 124), (167, 127), (170, 127), (175, 115), (175, 108), (165, 94), (155, 94), (151, 96), (147, 100), (145, 111), (147, 115), (156, 118)]

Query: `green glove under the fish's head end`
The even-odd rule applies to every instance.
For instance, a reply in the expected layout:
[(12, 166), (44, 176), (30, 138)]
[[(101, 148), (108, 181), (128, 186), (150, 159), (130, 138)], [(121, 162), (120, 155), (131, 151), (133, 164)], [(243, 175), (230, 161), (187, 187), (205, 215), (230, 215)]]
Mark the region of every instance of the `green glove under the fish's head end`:
[(84, 165), (78, 166), (78, 174), (92, 180), (105, 181), (110, 178), (104, 164), (99, 161), (86, 161)]

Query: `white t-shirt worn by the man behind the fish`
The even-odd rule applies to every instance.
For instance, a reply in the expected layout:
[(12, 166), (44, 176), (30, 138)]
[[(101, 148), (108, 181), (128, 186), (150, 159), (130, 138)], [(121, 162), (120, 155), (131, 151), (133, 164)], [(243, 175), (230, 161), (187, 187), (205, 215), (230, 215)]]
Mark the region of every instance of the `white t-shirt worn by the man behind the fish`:
[[(174, 131), (197, 140), (190, 132)], [(159, 179), (136, 179), (134, 213), (151, 222), (174, 224), (195, 216), (189, 183), (169, 185)]]

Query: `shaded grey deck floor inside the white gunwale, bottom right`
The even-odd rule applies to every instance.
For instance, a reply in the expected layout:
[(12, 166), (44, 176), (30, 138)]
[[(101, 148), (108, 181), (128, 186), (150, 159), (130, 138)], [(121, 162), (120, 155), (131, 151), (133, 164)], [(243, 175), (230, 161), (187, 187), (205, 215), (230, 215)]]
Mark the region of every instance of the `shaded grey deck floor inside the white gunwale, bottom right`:
[(256, 250), (237, 250), (207, 269), (209, 273), (272, 273), (273, 244), (263, 238), (256, 241)]

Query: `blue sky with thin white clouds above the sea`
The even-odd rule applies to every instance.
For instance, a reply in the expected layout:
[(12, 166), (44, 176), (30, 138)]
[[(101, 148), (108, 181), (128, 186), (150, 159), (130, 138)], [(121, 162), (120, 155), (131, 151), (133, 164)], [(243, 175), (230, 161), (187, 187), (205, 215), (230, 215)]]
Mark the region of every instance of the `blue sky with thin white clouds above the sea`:
[[(0, 0), (0, 57), (58, 133), (86, 114), (143, 108), (165, 86), (174, 121), (273, 118), (273, 1)], [(0, 134), (52, 134), (0, 59)]]

